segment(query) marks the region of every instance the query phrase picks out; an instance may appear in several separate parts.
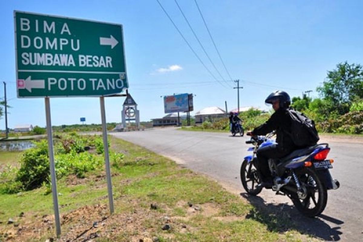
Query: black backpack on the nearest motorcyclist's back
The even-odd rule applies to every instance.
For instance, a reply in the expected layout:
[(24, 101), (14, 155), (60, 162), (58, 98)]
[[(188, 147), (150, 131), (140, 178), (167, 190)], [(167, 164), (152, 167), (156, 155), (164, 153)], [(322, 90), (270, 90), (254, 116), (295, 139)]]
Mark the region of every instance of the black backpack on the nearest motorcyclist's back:
[(291, 117), (291, 139), (299, 147), (315, 145), (319, 140), (314, 120), (309, 119), (301, 112), (288, 110)]

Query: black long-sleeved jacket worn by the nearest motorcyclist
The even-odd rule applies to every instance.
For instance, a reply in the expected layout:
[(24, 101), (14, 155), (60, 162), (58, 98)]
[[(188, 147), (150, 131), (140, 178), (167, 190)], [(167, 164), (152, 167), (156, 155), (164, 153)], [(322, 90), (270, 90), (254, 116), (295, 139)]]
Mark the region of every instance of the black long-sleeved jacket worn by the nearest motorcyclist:
[(271, 115), (269, 120), (256, 127), (252, 131), (252, 134), (266, 135), (274, 130), (276, 130), (276, 143), (278, 144), (278, 149), (285, 152), (297, 149), (289, 135), (291, 134), (291, 117), (288, 110), (278, 109)]

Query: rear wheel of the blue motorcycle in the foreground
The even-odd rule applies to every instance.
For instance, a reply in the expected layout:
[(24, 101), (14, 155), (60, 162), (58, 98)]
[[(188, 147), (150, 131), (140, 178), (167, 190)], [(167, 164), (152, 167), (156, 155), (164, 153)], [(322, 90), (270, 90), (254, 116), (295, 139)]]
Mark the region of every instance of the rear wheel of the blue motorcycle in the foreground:
[(328, 193), (326, 186), (311, 168), (303, 168), (295, 172), (303, 194), (291, 194), (291, 200), (297, 210), (307, 217), (315, 217), (325, 209)]

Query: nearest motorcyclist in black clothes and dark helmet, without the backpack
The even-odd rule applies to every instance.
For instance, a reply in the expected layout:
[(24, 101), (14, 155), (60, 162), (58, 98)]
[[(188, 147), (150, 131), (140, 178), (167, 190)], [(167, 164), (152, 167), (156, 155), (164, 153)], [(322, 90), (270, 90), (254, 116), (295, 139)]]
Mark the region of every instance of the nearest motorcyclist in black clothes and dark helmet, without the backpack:
[(276, 143), (257, 150), (258, 171), (262, 175), (262, 182), (259, 186), (270, 187), (273, 184), (271, 172), (268, 165), (268, 159), (281, 158), (291, 153), (297, 147), (288, 134), (291, 134), (291, 117), (289, 108), (291, 99), (285, 91), (275, 91), (271, 93), (265, 100), (266, 104), (272, 104), (275, 112), (271, 117), (260, 126), (248, 131), (246, 135), (266, 135), (272, 131), (276, 131)]

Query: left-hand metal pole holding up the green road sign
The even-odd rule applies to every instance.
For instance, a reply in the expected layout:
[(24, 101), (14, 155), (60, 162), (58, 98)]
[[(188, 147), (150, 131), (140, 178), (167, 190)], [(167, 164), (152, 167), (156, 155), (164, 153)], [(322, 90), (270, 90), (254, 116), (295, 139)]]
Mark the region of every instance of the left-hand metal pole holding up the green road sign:
[(57, 237), (58, 237), (59, 235), (61, 235), (61, 224), (59, 221), (57, 179), (56, 179), (56, 171), (55, 171), (55, 167), (54, 167), (52, 122), (50, 120), (49, 97), (45, 97), (45, 115), (46, 115), (46, 130), (47, 130), (47, 134), (48, 134), (48, 155), (49, 155), (49, 168), (50, 168), (50, 177), (51, 177), (50, 179), (52, 182), (54, 218), (56, 220), (56, 231), (57, 231)]

